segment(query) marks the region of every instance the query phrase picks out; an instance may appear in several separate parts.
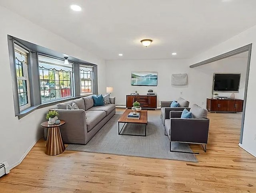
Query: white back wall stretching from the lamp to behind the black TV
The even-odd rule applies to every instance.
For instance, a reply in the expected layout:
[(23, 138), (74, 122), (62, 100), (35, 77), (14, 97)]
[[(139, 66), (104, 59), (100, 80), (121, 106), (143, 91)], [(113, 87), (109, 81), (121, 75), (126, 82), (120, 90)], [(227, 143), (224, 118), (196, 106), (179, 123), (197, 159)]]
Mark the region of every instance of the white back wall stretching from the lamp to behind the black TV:
[[(188, 60), (112, 60), (106, 61), (106, 84), (114, 87), (111, 96), (116, 97), (116, 104), (125, 104), (126, 95), (138, 91), (146, 94), (153, 89), (161, 100), (185, 98), (191, 104), (206, 107), (206, 98), (212, 97), (212, 82), (214, 73), (241, 73), (240, 90), (236, 98), (244, 98), (247, 58), (227, 58), (202, 67), (189, 68)], [(131, 71), (157, 71), (158, 85), (156, 87), (131, 86)], [(116, 72), (116, 73), (113, 73)], [(171, 74), (188, 73), (188, 86), (172, 86)], [(182, 92), (182, 94), (181, 94)], [(220, 96), (230, 96), (231, 93), (219, 93)]]

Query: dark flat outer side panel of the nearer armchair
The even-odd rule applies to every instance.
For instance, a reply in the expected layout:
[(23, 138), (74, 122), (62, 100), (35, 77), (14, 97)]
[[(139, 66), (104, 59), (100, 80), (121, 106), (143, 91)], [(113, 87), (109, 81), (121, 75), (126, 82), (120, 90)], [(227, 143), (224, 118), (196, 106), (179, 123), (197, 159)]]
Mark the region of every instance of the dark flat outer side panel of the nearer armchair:
[(209, 124), (210, 120), (208, 118), (171, 118), (171, 141), (207, 144)]

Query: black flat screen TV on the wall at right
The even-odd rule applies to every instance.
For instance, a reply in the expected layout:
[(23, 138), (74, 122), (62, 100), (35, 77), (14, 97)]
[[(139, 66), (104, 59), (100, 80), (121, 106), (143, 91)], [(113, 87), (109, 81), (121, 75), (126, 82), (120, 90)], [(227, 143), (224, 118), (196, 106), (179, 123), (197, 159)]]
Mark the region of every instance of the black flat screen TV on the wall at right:
[(241, 74), (214, 74), (214, 91), (239, 91)]

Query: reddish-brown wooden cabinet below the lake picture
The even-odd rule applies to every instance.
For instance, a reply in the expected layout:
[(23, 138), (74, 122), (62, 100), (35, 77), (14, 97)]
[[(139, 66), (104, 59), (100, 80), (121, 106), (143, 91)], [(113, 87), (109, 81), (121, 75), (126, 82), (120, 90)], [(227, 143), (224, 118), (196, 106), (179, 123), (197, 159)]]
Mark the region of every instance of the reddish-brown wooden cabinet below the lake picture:
[(141, 108), (156, 108), (156, 95), (126, 95), (126, 108), (132, 108), (132, 103), (138, 101)]

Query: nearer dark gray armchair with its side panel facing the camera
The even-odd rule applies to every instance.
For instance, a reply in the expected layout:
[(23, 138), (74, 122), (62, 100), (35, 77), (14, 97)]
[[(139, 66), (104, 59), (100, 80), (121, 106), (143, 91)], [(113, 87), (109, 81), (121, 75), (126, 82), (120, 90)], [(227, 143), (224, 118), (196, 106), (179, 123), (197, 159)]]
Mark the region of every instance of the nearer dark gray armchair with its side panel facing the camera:
[(180, 118), (182, 111), (171, 111), (170, 119), (165, 120), (165, 135), (170, 140), (170, 152), (180, 152), (172, 150), (171, 142), (202, 144), (204, 152), (206, 152), (210, 124), (207, 110), (193, 104), (190, 112), (192, 112), (193, 118), (183, 119)]

